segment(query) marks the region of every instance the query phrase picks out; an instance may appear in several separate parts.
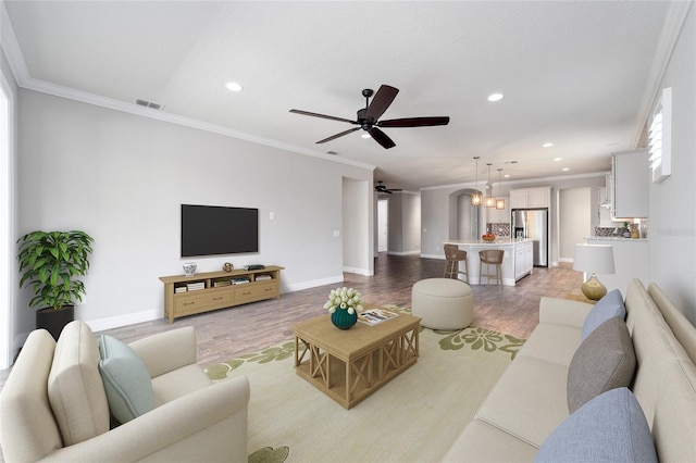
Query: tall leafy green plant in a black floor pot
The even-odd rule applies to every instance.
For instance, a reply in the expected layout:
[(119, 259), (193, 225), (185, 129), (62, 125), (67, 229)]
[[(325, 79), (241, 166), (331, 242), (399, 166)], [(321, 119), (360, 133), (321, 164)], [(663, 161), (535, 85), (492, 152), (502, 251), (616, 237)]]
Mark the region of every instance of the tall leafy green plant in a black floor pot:
[(20, 288), (32, 287), (30, 308), (36, 327), (46, 328), (58, 339), (63, 326), (74, 320), (75, 302), (82, 301), (85, 285), (77, 276), (89, 268), (94, 238), (84, 232), (32, 232), (20, 243)]

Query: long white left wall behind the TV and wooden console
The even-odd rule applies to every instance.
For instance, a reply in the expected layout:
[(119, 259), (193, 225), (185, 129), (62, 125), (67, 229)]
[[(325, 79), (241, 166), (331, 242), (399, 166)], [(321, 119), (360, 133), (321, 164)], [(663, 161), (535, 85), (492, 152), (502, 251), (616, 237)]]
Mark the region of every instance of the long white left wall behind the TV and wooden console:
[[(183, 272), (182, 203), (259, 208), (260, 252), (197, 258), (199, 272), (277, 264), (283, 292), (343, 280), (343, 179), (371, 186), (371, 170), (30, 90), (18, 108), (18, 232), (78, 228), (95, 238), (76, 311), (92, 327), (162, 316), (158, 277)], [(352, 223), (371, 235), (363, 196), (366, 217)], [(364, 256), (352, 263), (370, 273)], [(15, 304), (24, 331), (34, 327), (27, 300), (23, 291)]]

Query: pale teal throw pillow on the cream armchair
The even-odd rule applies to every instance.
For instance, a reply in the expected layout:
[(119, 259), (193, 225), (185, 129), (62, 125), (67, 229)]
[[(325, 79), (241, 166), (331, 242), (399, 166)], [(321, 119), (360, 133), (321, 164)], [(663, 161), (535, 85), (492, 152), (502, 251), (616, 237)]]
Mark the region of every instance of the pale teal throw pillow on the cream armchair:
[(113, 417), (123, 424), (152, 410), (152, 380), (135, 351), (125, 342), (104, 335), (99, 339), (99, 373)]

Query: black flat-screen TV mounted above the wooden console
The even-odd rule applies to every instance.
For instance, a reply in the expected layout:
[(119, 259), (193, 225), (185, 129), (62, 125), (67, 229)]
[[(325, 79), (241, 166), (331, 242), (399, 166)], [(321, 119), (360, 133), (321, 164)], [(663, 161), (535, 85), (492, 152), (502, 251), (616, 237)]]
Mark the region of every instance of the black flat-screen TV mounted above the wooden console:
[(182, 258), (259, 252), (259, 210), (182, 204)]

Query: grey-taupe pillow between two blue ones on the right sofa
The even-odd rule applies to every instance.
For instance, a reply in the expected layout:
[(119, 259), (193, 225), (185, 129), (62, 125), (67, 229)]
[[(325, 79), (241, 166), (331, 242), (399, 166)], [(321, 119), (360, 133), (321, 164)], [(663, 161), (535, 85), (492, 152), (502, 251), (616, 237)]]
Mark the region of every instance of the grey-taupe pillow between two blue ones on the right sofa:
[(627, 387), (634, 372), (635, 353), (626, 324), (611, 317), (587, 336), (570, 362), (568, 411), (573, 413), (610, 389)]

